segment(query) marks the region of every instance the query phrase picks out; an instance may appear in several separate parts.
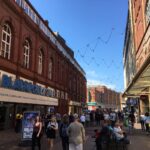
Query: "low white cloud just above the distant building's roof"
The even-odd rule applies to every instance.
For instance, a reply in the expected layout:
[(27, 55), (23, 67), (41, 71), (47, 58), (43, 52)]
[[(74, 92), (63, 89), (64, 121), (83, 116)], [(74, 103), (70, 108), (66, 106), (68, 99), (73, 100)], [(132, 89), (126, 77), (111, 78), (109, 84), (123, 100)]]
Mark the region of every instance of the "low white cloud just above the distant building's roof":
[(116, 86), (113, 84), (107, 84), (107, 83), (101, 82), (99, 80), (93, 80), (93, 79), (87, 80), (87, 86), (98, 86), (98, 85), (104, 85), (113, 90), (116, 89)]

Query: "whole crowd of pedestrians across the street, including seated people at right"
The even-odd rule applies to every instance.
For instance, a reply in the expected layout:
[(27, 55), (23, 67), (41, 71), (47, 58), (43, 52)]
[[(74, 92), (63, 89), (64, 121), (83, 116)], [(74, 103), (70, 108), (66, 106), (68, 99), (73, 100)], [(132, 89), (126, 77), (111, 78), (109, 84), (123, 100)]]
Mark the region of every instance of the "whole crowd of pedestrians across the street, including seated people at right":
[[(35, 149), (35, 145), (41, 150), (41, 137), (44, 133), (47, 138), (48, 150), (53, 149), (54, 140), (58, 133), (63, 150), (83, 150), (85, 127), (97, 128), (94, 136), (97, 150), (101, 150), (102, 144), (107, 143), (110, 138), (115, 138), (117, 141), (129, 144), (127, 130), (124, 130), (124, 127), (128, 129), (128, 133), (132, 133), (135, 122), (136, 117), (132, 111), (124, 113), (122, 111), (116, 112), (112, 109), (102, 108), (98, 108), (96, 111), (86, 111), (81, 114), (70, 113), (70, 115), (61, 115), (56, 113), (42, 115), (42, 117), (37, 116), (33, 125), (32, 150)], [(142, 130), (149, 133), (149, 113), (141, 115), (140, 123)]]

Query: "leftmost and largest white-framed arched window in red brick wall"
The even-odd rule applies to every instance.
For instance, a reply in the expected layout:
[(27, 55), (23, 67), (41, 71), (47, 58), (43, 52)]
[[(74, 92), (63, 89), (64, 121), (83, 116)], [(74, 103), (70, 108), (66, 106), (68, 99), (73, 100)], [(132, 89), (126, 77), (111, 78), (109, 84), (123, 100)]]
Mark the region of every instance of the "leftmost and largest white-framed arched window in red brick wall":
[(8, 23), (4, 24), (2, 28), (0, 56), (6, 59), (10, 59), (11, 38), (12, 38), (11, 28)]

